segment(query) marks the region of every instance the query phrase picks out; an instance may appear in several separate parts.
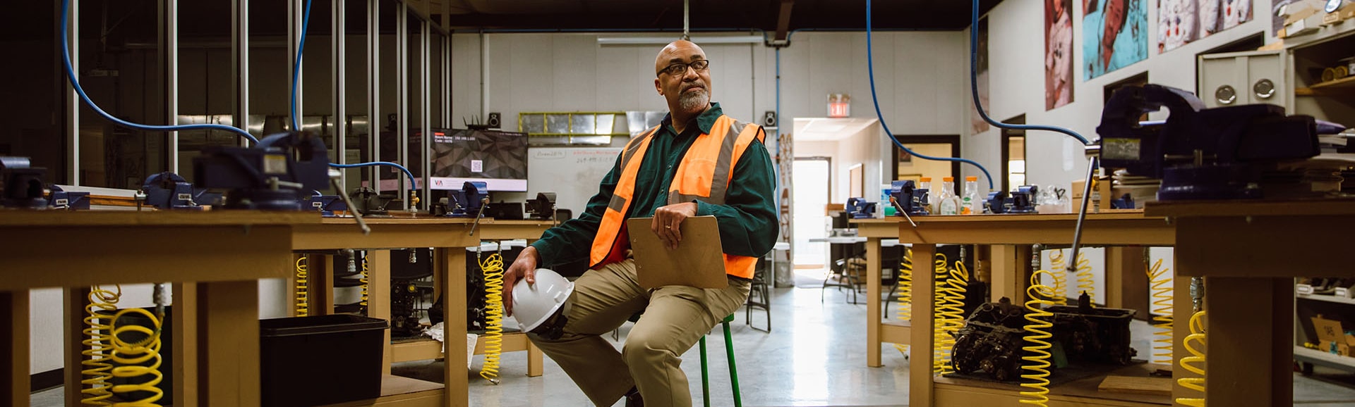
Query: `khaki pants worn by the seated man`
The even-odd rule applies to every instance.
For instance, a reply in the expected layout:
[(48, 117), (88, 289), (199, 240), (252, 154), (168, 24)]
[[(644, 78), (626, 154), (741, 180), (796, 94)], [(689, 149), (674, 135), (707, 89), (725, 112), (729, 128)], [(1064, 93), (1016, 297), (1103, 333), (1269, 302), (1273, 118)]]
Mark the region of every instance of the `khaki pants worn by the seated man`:
[[(527, 337), (569, 373), (593, 404), (611, 406), (634, 385), (645, 406), (687, 407), (691, 391), (679, 357), (748, 300), (748, 285), (730, 279), (718, 289), (644, 289), (635, 277), (635, 261), (627, 258), (588, 270), (575, 281), (565, 307), (569, 322), (560, 339)], [(640, 312), (644, 318), (617, 352), (602, 335)]]

